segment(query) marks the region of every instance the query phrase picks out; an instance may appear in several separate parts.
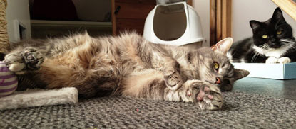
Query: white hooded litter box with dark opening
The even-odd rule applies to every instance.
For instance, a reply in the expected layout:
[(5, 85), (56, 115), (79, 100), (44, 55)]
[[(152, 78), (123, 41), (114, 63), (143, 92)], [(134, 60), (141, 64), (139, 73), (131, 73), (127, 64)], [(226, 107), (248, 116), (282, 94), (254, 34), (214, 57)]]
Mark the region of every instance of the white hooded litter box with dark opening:
[(152, 43), (201, 47), (203, 40), (200, 17), (186, 2), (158, 4), (148, 14), (144, 38)]

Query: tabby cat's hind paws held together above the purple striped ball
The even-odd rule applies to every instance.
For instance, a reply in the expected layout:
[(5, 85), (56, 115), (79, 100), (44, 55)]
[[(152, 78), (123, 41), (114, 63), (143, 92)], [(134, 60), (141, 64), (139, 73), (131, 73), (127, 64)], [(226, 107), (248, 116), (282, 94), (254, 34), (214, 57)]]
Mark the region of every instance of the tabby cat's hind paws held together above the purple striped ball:
[(28, 70), (39, 70), (44, 62), (44, 55), (36, 49), (27, 47), (21, 52), (11, 53), (5, 56), (4, 62), (11, 72), (25, 74)]

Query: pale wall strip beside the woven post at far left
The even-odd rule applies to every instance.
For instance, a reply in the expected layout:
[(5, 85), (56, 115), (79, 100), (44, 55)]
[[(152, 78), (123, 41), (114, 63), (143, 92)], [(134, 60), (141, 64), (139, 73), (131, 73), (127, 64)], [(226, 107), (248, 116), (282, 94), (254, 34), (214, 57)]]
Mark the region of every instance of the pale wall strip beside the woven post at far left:
[(18, 26), (15, 26), (14, 21), (19, 21), (21, 24), (26, 26), (26, 38), (31, 38), (28, 0), (7, 0), (6, 20), (10, 42), (16, 42), (19, 40), (16, 34), (19, 33)]

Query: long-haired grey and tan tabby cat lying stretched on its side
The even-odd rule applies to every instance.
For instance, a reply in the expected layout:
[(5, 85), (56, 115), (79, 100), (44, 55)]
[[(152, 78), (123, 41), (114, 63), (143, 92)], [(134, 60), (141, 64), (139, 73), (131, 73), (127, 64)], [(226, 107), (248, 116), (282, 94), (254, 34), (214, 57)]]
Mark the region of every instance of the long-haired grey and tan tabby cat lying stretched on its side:
[(225, 54), (231, 44), (226, 38), (213, 50), (188, 50), (149, 43), (136, 33), (100, 38), (85, 33), (12, 44), (4, 62), (19, 77), (47, 89), (76, 87), (84, 97), (131, 96), (218, 109), (220, 89), (232, 89), (235, 80), (249, 74), (230, 64)]

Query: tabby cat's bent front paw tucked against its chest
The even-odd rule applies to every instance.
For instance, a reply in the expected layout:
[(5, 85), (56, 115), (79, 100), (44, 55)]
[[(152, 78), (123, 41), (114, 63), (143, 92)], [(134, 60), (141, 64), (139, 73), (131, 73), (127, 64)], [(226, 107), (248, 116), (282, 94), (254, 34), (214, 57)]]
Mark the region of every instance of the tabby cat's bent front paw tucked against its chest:
[(166, 69), (164, 73), (165, 84), (171, 90), (176, 90), (183, 84), (182, 77), (175, 69)]

